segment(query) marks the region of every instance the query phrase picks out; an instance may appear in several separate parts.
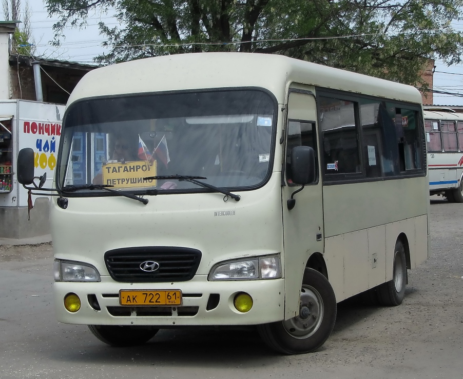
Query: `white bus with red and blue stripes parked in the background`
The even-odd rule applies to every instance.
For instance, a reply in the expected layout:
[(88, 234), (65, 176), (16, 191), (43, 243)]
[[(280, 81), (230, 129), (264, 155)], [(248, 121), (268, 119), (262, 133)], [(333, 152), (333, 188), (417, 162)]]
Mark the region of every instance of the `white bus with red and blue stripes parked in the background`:
[(425, 110), (429, 193), (463, 203), (463, 114)]

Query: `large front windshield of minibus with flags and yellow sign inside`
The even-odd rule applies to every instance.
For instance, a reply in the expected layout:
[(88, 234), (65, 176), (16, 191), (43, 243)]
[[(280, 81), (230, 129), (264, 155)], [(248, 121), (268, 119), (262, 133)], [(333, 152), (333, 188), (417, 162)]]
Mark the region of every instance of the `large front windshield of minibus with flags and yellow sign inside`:
[[(120, 191), (204, 191), (170, 175), (219, 188), (265, 181), (275, 135), (275, 100), (260, 90), (90, 98), (64, 117), (56, 183), (101, 195)], [(76, 188), (78, 191), (75, 191)]]

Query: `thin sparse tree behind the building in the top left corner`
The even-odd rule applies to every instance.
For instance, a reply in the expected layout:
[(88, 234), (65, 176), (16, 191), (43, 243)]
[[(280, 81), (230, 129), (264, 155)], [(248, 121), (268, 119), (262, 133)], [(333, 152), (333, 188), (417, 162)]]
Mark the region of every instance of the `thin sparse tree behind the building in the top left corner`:
[(6, 21), (21, 21), (13, 34), (13, 53), (20, 55), (33, 55), (35, 42), (31, 29), (31, 11), (26, 0), (24, 11), (21, 11), (21, 0), (3, 0), (3, 13)]

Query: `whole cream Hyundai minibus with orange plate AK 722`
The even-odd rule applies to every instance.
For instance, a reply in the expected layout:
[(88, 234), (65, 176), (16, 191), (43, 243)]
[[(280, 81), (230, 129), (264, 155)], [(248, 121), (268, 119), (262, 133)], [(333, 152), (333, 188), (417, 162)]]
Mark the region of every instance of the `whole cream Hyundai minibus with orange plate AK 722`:
[(399, 305), (427, 259), (425, 138), (415, 88), (285, 56), (90, 71), (57, 157), (57, 320), (113, 346), (256, 325), (279, 352), (314, 351), (337, 303)]

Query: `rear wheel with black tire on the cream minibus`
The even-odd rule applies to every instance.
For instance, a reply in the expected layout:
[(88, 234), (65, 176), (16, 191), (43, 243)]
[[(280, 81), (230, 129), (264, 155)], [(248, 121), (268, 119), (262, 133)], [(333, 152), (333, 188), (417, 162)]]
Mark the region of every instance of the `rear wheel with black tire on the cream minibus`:
[(378, 286), (377, 294), (379, 304), (397, 306), (402, 303), (407, 285), (407, 261), (405, 248), (401, 241), (395, 243), (394, 263), (392, 266), (392, 280)]

